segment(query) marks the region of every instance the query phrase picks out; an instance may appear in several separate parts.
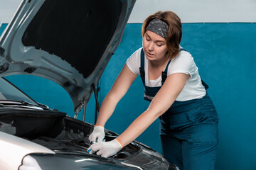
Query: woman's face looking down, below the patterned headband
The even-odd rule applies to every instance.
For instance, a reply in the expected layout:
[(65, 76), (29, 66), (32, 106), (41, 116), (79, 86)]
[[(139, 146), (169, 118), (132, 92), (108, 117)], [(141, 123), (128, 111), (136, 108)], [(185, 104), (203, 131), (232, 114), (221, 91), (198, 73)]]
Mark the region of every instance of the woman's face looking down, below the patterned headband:
[(143, 48), (146, 58), (150, 61), (164, 60), (167, 57), (166, 40), (150, 30), (146, 30), (144, 34)]

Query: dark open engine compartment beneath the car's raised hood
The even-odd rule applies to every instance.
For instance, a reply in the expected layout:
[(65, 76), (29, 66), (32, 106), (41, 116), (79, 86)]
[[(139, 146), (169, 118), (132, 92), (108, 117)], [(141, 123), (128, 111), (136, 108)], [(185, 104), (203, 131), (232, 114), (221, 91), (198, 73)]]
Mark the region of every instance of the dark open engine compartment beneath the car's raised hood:
[[(75, 118), (70, 118), (59, 111), (0, 109), (0, 130), (31, 140), (55, 152), (87, 154), (87, 148), (90, 147), (88, 137), (93, 130), (93, 126)], [(106, 141), (114, 140), (115, 137), (117, 137), (116, 133), (105, 130)], [(124, 159), (138, 152), (139, 149), (138, 145), (130, 144), (112, 158)]]

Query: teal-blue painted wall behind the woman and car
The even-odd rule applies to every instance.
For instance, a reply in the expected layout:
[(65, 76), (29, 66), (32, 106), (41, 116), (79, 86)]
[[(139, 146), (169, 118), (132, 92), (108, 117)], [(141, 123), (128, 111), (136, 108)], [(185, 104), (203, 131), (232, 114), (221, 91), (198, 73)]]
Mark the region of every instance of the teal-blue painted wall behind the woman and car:
[[(129, 55), (142, 46), (141, 27), (142, 24), (128, 24), (124, 30), (122, 42), (102, 74), (101, 102)], [(216, 169), (256, 169), (255, 40), (255, 23), (183, 24), (181, 46), (193, 55), (201, 77), (210, 86), (208, 93), (220, 117)], [(57, 84), (31, 76), (8, 79), (37, 101), (73, 116), (72, 102)], [(107, 129), (121, 133), (145, 111), (149, 103), (143, 100), (143, 91), (142, 82), (137, 77), (107, 122)], [(89, 123), (94, 122), (94, 105), (92, 96), (87, 107), (86, 121)], [(137, 140), (161, 152), (159, 120)]]

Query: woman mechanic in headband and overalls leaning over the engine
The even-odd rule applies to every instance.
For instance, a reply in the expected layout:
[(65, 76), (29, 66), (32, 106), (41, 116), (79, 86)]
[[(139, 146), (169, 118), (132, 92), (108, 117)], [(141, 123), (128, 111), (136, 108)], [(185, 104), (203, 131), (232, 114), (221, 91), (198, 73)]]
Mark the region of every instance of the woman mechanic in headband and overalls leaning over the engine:
[[(179, 45), (180, 18), (171, 11), (156, 12), (144, 21), (142, 35), (143, 48), (129, 57), (102, 102), (89, 137), (98, 142), (90, 146), (90, 154), (116, 154), (160, 118), (162, 154), (171, 164), (186, 170), (214, 169), (218, 115), (193, 57)], [(138, 74), (144, 84), (144, 98), (151, 101), (149, 108), (119, 137), (100, 142), (105, 137), (105, 123)]]

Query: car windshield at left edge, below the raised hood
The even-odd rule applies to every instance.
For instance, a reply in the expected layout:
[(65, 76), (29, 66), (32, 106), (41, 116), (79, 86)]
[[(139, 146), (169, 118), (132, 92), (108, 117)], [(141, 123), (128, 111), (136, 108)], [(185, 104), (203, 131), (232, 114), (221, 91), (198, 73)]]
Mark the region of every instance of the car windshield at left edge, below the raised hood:
[(23, 92), (3, 78), (0, 78), (0, 100), (26, 101), (28, 103), (38, 105), (35, 101), (31, 100), (31, 98), (23, 94)]

